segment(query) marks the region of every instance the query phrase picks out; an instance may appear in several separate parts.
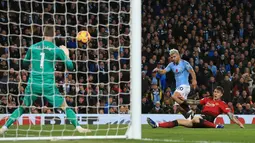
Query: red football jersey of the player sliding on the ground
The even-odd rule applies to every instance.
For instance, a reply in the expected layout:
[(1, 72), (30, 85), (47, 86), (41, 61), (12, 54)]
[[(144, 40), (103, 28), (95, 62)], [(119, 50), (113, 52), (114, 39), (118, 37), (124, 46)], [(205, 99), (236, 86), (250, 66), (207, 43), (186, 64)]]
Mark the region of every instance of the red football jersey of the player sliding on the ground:
[(212, 98), (203, 98), (200, 104), (204, 105), (202, 114), (217, 117), (219, 114), (231, 112), (228, 105), (221, 100), (213, 100)]

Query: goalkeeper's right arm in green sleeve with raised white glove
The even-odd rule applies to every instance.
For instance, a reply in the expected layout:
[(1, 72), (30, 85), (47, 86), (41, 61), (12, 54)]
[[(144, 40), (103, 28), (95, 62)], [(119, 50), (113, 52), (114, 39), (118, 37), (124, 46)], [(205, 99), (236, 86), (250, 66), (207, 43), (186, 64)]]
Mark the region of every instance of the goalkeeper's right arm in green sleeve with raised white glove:
[(69, 51), (65, 46), (57, 48), (57, 56), (60, 60), (65, 62), (67, 70), (72, 71), (74, 69), (73, 62), (69, 58)]

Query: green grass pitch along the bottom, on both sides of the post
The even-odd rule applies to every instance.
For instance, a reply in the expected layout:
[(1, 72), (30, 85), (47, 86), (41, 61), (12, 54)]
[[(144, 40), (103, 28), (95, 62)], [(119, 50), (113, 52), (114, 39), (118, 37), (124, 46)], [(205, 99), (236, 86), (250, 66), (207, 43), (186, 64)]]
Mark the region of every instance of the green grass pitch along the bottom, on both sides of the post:
[[(18, 130), (17, 130), (18, 127)], [(4, 136), (5, 137), (25, 137), (25, 136), (59, 136), (59, 135), (79, 135), (74, 132), (71, 125), (44, 125), (42, 126), (12, 126)], [(126, 131), (126, 125), (98, 125), (89, 126), (93, 130), (88, 135), (123, 135)], [(152, 129), (148, 125), (142, 126), (142, 140), (126, 139), (88, 139), (88, 140), (59, 140), (59, 141), (15, 141), (15, 143), (254, 143), (255, 125), (246, 125), (245, 129), (237, 125), (226, 125), (224, 129), (192, 129), (192, 128), (171, 128), (171, 129)], [(117, 130), (118, 128), (118, 130)], [(41, 130), (42, 129), (42, 130)], [(0, 136), (0, 138), (3, 136)], [(3, 141), (4, 143), (10, 141)]]

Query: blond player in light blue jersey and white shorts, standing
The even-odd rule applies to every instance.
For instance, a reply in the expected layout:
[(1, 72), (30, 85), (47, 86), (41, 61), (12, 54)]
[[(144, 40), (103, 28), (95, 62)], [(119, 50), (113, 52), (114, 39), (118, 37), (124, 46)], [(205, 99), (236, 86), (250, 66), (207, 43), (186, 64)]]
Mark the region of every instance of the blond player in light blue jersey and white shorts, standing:
[(170, 50), (170, 57), (172, 62), (168, 64), (165, 69), (155, 68), (153, 71), (159, 74), (166, 74), (169, 71), (173, 71), (176, 80), (176, 90), (172, 96), (176, 103), (183, 109), (183, 115), (185, 118), (193, 118), (194, 113), (190, 110), (189, 105), (186, 103), (186, 99), (190, 92), (189, 75), (192, 77), (192, 86), (196, 88), (197, 80), (196, 74), (192, 66), (185, 60), (182, 60), (178, 50)]

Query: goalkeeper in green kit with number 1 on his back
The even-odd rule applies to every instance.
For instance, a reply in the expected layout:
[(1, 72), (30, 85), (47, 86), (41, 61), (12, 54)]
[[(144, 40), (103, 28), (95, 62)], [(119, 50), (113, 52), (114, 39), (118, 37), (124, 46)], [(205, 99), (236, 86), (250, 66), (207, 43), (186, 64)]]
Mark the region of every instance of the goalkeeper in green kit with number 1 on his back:
[(69, 51), (65, 46), (57, 47), (52, 43), (55, 36), (55, 28), (46, 26), (44, 29), (44, 41), (32, 45), (23, 61), (25, 65), (31, 64), (31, 73), (22, 106), (17, 108), (9, 117), (5, 125), (0, 129), (3, 134), (25, 111), (24, 107), (32, 106), (38, 96), (42, 95), (54, 108), (61, 108), (65, 111), (67, 119), (75, 126), (80, 133), (90, 132), (82, 128), (74, 111), (66, 104), (65, 98), (60, 94), (55, 84), (55, 61), (61, 60), (69, 71), (73, 70), (73, 63), (69, 59)]

